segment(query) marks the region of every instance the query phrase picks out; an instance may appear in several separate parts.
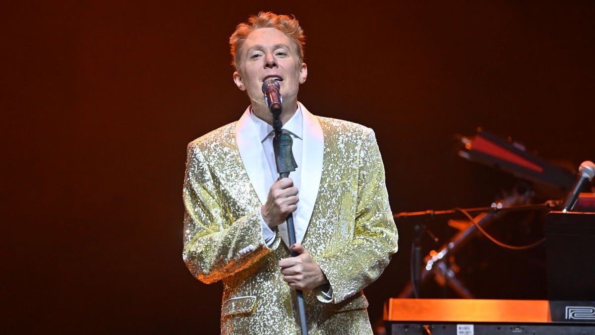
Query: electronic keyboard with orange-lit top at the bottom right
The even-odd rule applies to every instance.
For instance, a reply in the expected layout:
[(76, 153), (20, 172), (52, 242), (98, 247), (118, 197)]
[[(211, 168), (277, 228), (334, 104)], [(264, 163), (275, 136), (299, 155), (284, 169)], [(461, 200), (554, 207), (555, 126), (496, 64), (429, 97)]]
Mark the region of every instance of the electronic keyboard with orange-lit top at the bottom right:
[(595, 335), (595, 302), (389, 299), (386, 334)]

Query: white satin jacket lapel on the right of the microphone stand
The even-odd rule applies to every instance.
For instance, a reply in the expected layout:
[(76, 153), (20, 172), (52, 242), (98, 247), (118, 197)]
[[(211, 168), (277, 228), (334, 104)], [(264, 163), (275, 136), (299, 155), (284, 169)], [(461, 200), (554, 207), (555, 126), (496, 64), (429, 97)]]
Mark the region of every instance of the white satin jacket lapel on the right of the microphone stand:
[(322, 157), (324, 156), (324, 135), (317, 117), (306, 110), (306, 107), (301, 103), (299, 105), (302, 108), (303, 116), (303, 154), (302, 185), (299, 190), (299, 203), (297, 203), (300, 210), (297, 211), (296, 221), (303, 222), (303, 225), (300, 225), (299, 231), (296, 229), (296, 241), (301, 243), (318, 197), (322, 176)]

